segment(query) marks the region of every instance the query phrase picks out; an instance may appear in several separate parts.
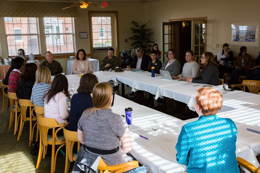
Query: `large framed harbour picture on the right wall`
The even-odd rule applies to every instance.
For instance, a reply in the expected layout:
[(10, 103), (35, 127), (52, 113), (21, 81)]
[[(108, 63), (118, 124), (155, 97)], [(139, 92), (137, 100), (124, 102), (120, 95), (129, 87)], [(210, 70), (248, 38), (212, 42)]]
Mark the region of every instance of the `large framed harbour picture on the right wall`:
[(259, 21), (231, 22), (230, 45), (259, 47)]

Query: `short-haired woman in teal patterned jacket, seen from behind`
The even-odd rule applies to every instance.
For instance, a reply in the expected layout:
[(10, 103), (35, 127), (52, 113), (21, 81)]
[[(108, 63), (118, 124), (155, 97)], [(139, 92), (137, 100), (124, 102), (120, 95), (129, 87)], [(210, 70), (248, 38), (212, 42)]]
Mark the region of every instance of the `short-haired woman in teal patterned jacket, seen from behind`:
[(223, 96), (211, 87), (199, 88), (195, 97), (197, 121), (181, 128), (176, 144), (177, 161), (187, 172), (237, 172), (237, 128), (229, 118), (219, 118)]

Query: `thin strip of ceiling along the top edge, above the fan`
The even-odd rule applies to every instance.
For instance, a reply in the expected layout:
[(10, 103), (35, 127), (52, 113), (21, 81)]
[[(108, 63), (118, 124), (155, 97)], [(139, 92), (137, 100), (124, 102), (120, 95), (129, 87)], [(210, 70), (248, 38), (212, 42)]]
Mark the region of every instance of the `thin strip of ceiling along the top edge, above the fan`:
[[(5, 1), (12, 1), (12, 0), (5, 0)], [(84, 0), (71, 0), (71, 1), (64, 1), (64, 0), (16, 0), (16, 1), (40, 1), (40, 2), (83, 2)], [(132, 3), (145, 3), (145, 2), (154, 2), (154, 1), (161, 1), (161, 0), (88, 0), (84, 2), (132, 2)]]

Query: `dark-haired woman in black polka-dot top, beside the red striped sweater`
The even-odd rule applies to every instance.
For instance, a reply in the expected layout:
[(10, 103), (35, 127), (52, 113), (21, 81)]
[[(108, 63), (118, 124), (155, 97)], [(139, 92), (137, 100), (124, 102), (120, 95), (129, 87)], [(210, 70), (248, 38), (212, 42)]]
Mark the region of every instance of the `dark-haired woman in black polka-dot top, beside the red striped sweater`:
[[(25, 64), (20, 81), (16, 89), (16, 97), (19, 99), (30, 99), (33, 85), (35, 82), (35, 74), (37, 70), (37, 65), (35, 63)], [(26, 116), (30, 117), (30, 108), (26, 109)]]

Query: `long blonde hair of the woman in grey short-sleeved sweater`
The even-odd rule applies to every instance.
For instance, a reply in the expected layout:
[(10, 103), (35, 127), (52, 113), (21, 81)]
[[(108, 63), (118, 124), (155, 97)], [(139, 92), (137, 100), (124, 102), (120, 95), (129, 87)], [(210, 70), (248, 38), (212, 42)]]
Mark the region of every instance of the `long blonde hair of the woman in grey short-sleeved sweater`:
[(96, 84), (92, 92), (94, 107), (87, 109), (90, 110), (88, 118), (96, 110), (110, 108), (112, 94), (113, 91), (109, 83), (101, 82)]

